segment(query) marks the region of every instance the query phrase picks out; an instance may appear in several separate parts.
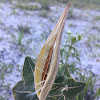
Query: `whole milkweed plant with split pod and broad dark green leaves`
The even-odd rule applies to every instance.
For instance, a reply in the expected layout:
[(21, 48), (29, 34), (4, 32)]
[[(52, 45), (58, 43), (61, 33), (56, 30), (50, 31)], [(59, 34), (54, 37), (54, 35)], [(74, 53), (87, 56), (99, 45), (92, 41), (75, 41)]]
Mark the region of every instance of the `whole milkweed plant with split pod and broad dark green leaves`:
[(68, 3), (56, 27), (47, 38), (37, 60), (26, 57), (22, 80), (12, 89), (15, 100), (72, 100), (86, 85), (73, 79), (67, 64), (60, 62), (60, 42), (68, 13)]

